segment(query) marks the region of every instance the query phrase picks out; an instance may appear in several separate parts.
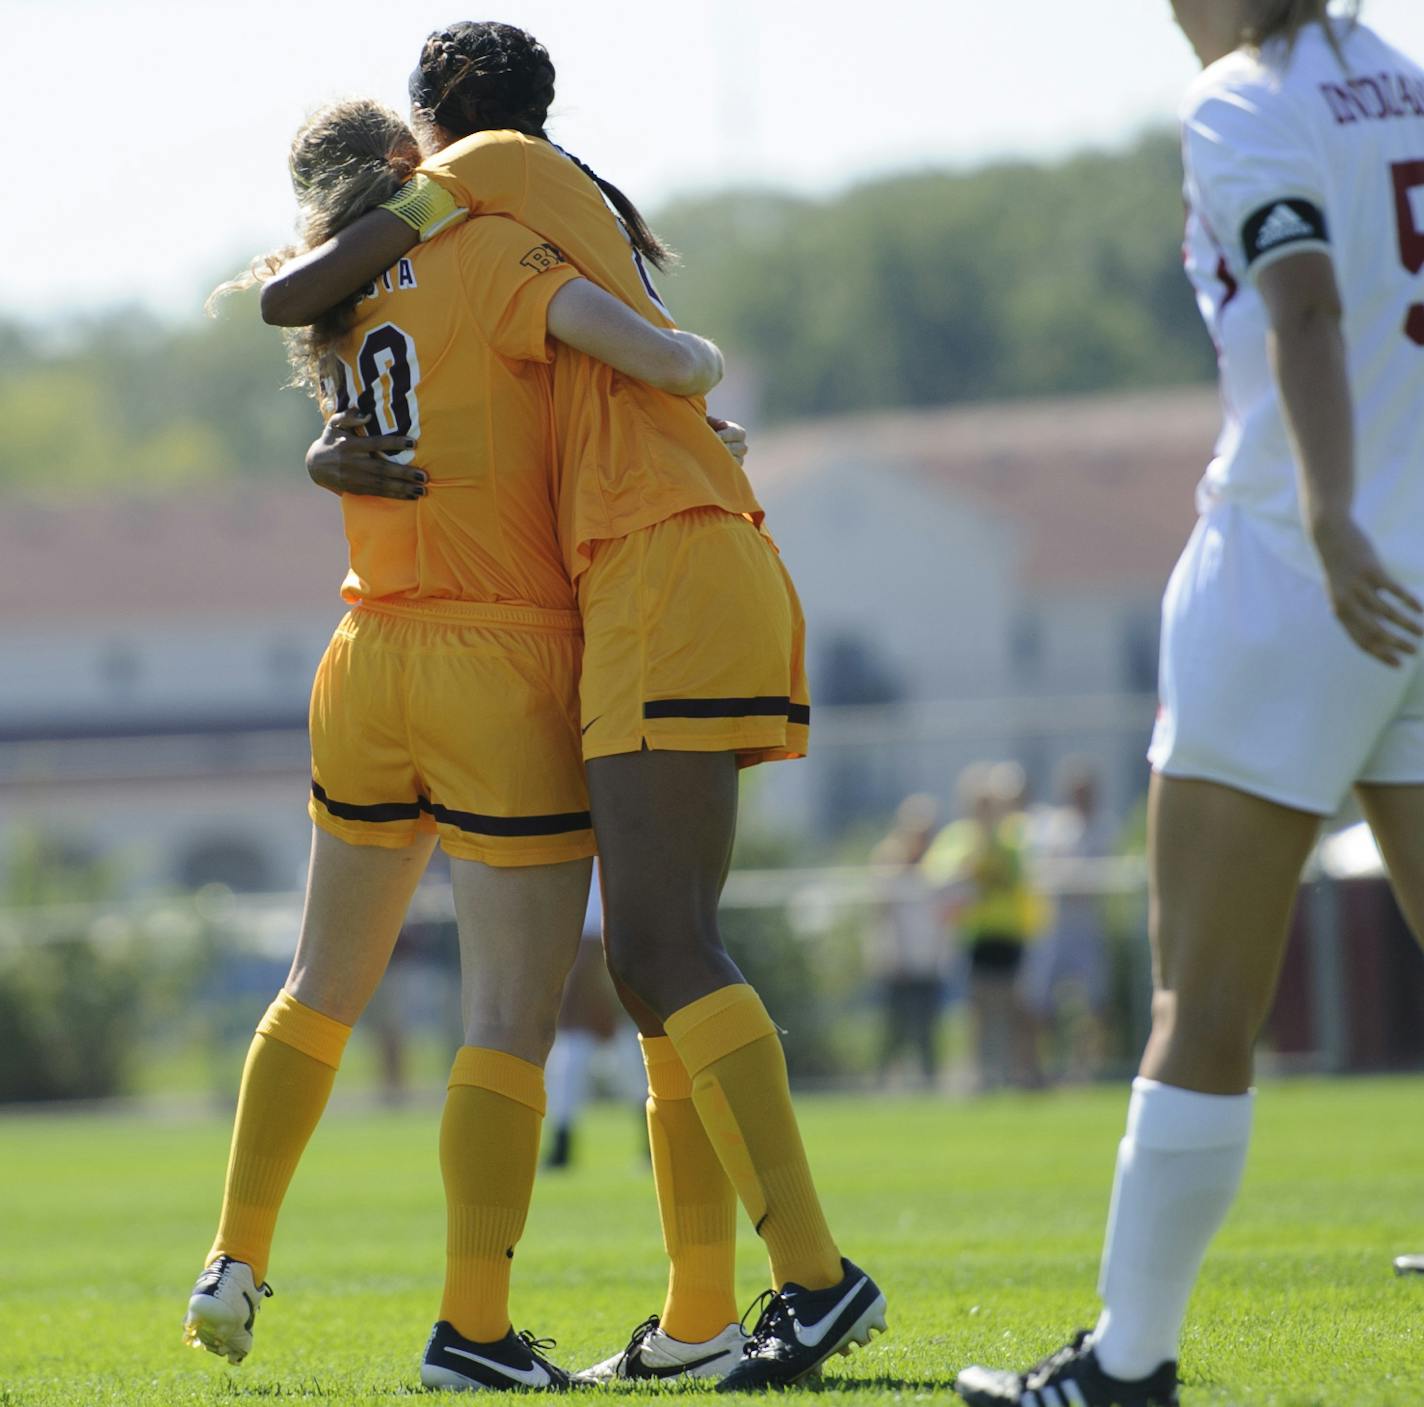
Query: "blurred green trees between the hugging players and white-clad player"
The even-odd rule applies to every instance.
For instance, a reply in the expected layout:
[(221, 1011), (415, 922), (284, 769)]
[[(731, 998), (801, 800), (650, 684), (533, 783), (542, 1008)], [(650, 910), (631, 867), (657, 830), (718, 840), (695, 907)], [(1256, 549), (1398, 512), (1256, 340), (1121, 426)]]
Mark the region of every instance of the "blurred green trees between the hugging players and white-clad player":
[(1209, 379), (1180, 155), (1125, 152), (665, 211), (678, 320), (755, 365), (768, 420)]

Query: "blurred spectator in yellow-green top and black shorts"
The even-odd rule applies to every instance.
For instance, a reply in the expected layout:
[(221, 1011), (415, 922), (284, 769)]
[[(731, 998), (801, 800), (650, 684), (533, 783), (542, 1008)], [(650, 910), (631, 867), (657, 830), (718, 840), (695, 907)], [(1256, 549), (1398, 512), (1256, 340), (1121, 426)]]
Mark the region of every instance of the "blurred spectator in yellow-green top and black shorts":
[(977, 1085), (1035, 1088), (1037, 1031), (1017, 994), (1024, 950), (1044, 921), (1025, 864), (1024, 769), (975, 763), (957, 790), (963, 819), (934, 837), (923, 870), (968, 951)]

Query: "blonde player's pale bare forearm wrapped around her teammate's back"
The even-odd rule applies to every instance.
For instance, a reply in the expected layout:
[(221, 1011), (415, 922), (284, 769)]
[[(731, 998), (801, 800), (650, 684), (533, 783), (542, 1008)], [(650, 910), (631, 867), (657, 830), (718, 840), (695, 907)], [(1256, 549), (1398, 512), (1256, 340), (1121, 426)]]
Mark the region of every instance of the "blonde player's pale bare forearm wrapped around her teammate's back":
[(655, 328), (590, 279), (572, 279), (554, 295), (548, 333), (672, 396), (703, 396), (722, 380), (715, 342), (678, 328)]

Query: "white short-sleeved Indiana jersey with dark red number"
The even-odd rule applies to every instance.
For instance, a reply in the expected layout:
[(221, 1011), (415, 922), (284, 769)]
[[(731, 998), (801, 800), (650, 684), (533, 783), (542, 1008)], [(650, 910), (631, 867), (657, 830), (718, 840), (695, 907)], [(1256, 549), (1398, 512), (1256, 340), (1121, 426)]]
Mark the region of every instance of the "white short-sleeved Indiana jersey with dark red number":
[(1239, 504), (1316, 575), (1253, 276), (1302, 249), (1334, 259), (1356, 410), (1356, 516), (1424, 587), (1424, 70), (1364, 26), (1206, 68), (1182, 114), (1186, 266), (1220, 359), (1225, 424), (1203, 511)]

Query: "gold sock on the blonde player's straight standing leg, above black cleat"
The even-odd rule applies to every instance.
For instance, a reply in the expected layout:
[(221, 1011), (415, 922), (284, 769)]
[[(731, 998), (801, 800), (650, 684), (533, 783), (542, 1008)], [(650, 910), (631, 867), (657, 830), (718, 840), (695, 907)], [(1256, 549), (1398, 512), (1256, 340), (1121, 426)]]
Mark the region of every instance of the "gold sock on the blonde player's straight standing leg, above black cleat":
[(510, 1332), (510, 1262), (524, 1233), (544, 1071), (504, 1051), (461, 1045), (440, 1122), (446, 1287), (440, 1317), (476, 1343)]

